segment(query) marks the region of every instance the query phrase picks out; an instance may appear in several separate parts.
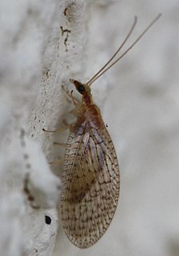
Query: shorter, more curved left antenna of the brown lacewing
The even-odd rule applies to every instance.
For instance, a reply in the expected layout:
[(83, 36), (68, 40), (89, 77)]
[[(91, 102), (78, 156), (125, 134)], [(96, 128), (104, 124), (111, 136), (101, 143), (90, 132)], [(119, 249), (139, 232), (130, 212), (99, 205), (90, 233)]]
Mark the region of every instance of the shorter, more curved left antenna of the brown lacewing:
[(124, 41), (121, 43), (120, 47), (118, 47), (117, 51), (113, 54), (113, 56), (109, 59), (109, 61), (107, 63), (105, 63), (105, 65), (103, 67), (101, 67), (101, 69), (99, 71), (97, 71), (97, 73), (95, 75), (93, 75), (93, 77), (87, 82), (89, 85), (91, 85), (93, 83), (93, 79), (95, 79), (97, 77), (97, 75), (103, 71), (103, 69), (113, 60), (113, 58), (117, 55), (117, 53), (121, 50), (121, 47), (123, 47), (125, 45), (125, 43), (127, 42), (127, 40), (129, 39), (129, 36), (133, 33), (133, 29), (137, 24), (137, 16), (134, 17), (134, 22), (133, 22), (133, 26), (131, 26), (131, 29), (129, 30), (128, 35), (125, 37)]

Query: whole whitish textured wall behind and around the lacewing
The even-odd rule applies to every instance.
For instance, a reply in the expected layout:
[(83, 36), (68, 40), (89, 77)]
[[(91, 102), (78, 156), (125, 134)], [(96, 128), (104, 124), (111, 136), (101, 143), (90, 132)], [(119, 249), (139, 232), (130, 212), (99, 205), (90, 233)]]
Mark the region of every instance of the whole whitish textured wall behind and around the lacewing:
[[(120, 162), (117, 213), (87, 250), (70, 244), (60, 226), (54, 255), (179, 254), (178, 2), (2, 0), (2, 255), (52, 255), (61, 183), (46, 157), (62, 157), (53, 141), (66, 141), (66, 133), (54, 136), (42, 128), (70, 121), (61, 85), (69, 87), (69, 78), (90, 79), (124, 39), (135, 14), (131, 41), (159, 12), (162, 18), (145, 38), (92, 87)], [(62, 175), (62, 166), (52, 169)]]

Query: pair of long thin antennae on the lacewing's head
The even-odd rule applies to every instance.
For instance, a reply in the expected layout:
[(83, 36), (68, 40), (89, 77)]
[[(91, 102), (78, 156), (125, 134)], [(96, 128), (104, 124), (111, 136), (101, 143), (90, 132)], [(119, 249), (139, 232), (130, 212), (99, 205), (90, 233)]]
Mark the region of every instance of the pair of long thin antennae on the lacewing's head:
[[(115, 54), (112, 56), (112, 58), (109, 59), (109, 61), (105, 64), (105, 66), (102, 67), (101, 70), (98, 71), (95, 75), (93, 75), (92, 79), (90, 79), (90, 80), (87, 82), (87, 84), (91, 85), (94, 81), (96, 81), (96, 79), (98, 79), (101, 75), (103, 75), (106, 71), (108, 71), (110, 67), (113, 67), (113, 65), (114, 65), (115, 63), (117, 63), (122, 57), (124, 57), (124, 55), (126, 55), (126, 54), (128, 53), (128, 51), (130, 51), (130, 50), (133, 48), (133, 46), (142, 38), (143, 35), (145, 35), (145, 33), (149, 30), (149, 28), (150, 28), (151, 26), (153, 26), (153, 24), (154, 24), (155, 22), (157, 22), (157, 20), (158, 20), (159, 18), (161, 18), (161, 14), (158, 14), (157, 17), (154, 18), (153, 21), (149, 23), (149, 25), (145, 28), (145, 30), (141, 33), (141, 35), (139, 35), (139, 36), (137, 37), (137, 39), (127, 48), (127, 50), (126, 50), (121, 56), (119, 56), (119, 58), (118, 58), (117, 60), (115, 60), (112, 64), (110, 64), (109, 67), (105, 68), (105, 67), (111, 62), (111, 60), (117, 55), (118, 51), (121, 50), (121, 47), (124, 45), (124, 43), (126, 42), (126, 40), (129, 38), (129, 35), (131, 35), (131, 33), (132, 33), (132, 31), (133, 31), (133, 28), (134, 28), (134, 26), (136, 25), (136, 22), (137, 22), (137, 20), (135, 19), (136, 22), (135, 22), (135, 21), (133, 22), (133, 26), (132, 26), (131, 30), (129, 31), (129, 34), (128, 34), (127, 37), (125, 38), (124, 42), (121, 44), (121, 46), (118, 48), (118, 50), (117, 50), (117, 51), (115, 52)], [(105, 70), (104, 70), (104, 68), (105, 68)], [(102, 71), (102, 72), (101, 72), (101, 71)]]

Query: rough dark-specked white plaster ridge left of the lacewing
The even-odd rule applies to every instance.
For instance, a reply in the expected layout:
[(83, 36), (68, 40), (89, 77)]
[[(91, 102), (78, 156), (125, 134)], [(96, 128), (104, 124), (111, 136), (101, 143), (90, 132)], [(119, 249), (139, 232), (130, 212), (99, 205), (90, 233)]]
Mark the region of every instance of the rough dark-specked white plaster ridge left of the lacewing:
[(62, 122), (61, 85), (80, 67), (84, 4), (72, 3), (0, 2), (1, 255), (54, 250), (61, 181), (46, 161), (53, 138), (42, 128)]

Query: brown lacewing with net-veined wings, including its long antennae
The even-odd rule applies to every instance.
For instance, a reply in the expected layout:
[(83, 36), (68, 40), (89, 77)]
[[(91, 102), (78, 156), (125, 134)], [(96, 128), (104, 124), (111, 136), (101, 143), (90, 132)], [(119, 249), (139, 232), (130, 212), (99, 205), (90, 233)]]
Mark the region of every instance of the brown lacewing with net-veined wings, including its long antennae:
[(70, 127), (66, 144), (61, 217), (67, 237), (80, 248), (93, 246), (105, 233), (117, 208), (120, 188), (117, 155), (100, 110), (93, 104), (90, 86), (117, 63), (160, 17), (158, 14), (129, 48), (111, 63), (132, 34), (137, 23), (135, 17), (125, 40), (104, 67), (87, 83), (70, 79), (82, 95), (82, 102), (71, 92), (75, 106), (73, 114), (78, 119)]

